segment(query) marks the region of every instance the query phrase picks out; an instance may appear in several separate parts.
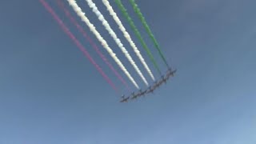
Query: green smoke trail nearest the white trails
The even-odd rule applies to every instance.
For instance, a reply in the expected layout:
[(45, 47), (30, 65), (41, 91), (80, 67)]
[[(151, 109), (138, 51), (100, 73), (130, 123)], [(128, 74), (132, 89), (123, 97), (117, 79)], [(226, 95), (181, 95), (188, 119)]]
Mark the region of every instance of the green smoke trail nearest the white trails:
[(158, 70), (158, 73), (160, 75), (162, 75), (161, 70), (159, 69), (157, 62), (155, 62), (154, 57), (150, 52), (150, 49), (146, 46), (146, 42), (142, 38), (142, 34), (140, 34), (140, 32), (138, 31), (137, 27), (135, 26), (133, 20), (130, 18), (130, 15), (127, 13), (125, 6), (122, 5), (121, 0), (115, 0), (115, 2), (117, 3), (118, 8), (122, 11), (122, 15), (129, 22), (129, 25), (132, 28), (132, 30), (134, 30), (134, 33), (135, 33), (136, 37), (138, 38), (139, 42), (142, 43), (142, 47), (143, 47), (144, 50), (146, 50), (146, 54), (149, 55), (150, 61), (153, 62), (154, 67)]

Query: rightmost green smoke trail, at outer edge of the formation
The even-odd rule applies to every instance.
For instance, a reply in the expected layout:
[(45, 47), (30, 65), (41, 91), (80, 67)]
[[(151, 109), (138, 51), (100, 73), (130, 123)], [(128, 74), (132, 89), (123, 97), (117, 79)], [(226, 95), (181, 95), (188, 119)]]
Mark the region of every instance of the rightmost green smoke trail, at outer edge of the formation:
[(135, 3), (134, 0), (130, 0), (130, 4), (134, 7), (135, 13), (138, 15), (138, 18), (141, 20), (141, 22), (142, 22), (144, 28), (146, 29), (147, 34), (150, 35), (150, 38), (151, 38), (152, 42), (154, 43), (154, 46), (157, 48), (158, 53), (161, 55), (162, 60), (166, 63), (166, 66), (169, 67), (169, 65), (168, 65), (168, 63), (167, 63), (167, 61), (166, 61), (166, 58), (163, 56), (162, 51), (160, 50), (160, 47), (159, 47), (159, 45), (158, 45), (158, 42), (157, 42), (157, 40), (154, 38), (154, 35), (153, 35), (153, 33), (151, 32), (151, 30), (150, 30), (150, 26), (148, 26), (148, 24), (146, 23), (146, 20), (145, 20), (145, 18), (143, 17), (141, 10), (139, 10), (139, 8), (138, 8), (138, 5)]

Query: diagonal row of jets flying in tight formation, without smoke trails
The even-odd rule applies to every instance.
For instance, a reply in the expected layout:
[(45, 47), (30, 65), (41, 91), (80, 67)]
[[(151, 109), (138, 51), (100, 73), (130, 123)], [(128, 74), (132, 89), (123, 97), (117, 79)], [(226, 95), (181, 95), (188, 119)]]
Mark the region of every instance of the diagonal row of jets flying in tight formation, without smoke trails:
[(128, 102), (129, 99), (136, 99), (138, 97), (141, 96), (145, 96), (145, 94), (154, 94), (154, 90), (157, 89), (159, 86), (161, 86), (163, 83), (166, 84), (167, 80), (170, 77), (174, 76), (174, 73), (176, 72), (176, 70), (167, 70), (166, 75), (162, 75), (161, 79), (159, 81), (154, 82), (153, 86), (148, 87), (146, 90), (139, 90), (137, 94), (135, 94), (135, 92), (133, 92), (132, 94), (130, 94), (130, 96), (125, 97), (125, 95), (122, 95), (122, 100), (120, 102)]

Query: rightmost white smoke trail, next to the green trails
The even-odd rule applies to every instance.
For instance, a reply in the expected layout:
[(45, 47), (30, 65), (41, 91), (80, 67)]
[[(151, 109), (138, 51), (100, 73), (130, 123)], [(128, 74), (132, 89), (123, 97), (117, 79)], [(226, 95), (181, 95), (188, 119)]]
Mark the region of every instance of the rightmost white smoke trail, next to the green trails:
[(119, 29), (122, 31), (122, 34), (126, 38), (126, 40), (130, 43), (130, 46), (134, 49), (134, 53), (137, 54), (139, 60), (142, 62), (142, 65), (145, 67), (148, 74), (150, 74), (150, 77), (154, 79), (154, 75), (152, 74), (149, 66), (147, 66), (144, 58), (142, 57), (142, 54), (140, 54), (140, 51), (138, 50), (137, 46), (134, 44), (133, 40), (130, 38), (130, 34), (126, 31), (126, 28), (122, 25), (122, 22), (118, 18), (118, 15), (114, 12), (112, 6), (110, 6), (110, 2), (108, 0), (102, 0), (103, 4), (106, 6), (106, 9), (110, 12), (110, 15), (114, 18), (114, 21), (118, 24)]

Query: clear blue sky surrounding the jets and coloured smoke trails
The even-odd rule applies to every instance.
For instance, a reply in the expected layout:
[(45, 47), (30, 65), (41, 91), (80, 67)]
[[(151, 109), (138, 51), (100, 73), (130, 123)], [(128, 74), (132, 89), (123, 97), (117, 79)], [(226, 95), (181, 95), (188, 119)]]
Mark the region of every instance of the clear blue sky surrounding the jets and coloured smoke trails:
[[(122, 90), (56, 2), (47, 2)], [(118, 31), (102, 2), (94, 2)], [(86, 2), (78, 3), (118, 50)], [(110, 3), (121, 16), (114, 1)], [(124, 4), (142, 30), (129, 3)], [(1, 2), (0, 144), (256, 143), (256, 1), (159, 0), (138, 5), (178, 71), (154, 95), (119, 103), (120, 95), (38, 0)], [(143, 36), (150, 42), (145, 32)]]

